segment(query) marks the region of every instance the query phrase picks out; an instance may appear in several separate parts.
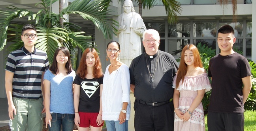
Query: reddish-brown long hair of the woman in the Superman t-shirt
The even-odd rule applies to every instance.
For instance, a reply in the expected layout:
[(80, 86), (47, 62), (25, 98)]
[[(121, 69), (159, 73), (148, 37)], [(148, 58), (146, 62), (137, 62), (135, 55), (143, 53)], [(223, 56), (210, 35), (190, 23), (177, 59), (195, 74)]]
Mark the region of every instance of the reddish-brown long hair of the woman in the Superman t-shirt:
[(94, 48), (87, 48), (85, 50), (85, 52), (83, 53), (80, 64), (79, 64), (79, 67), (77, 69), (77, 75), (79, 77), (81, 77), (82, 79), (85, 79), (85, 76), (88, 73), (87, 72), (87, 64), (86, 64), (86, 55), (89, 52), (92, 52), (92, 54), (94, 55), (94, 58), (95, 58), (95, 65), (94, 65), (94, 68), (93, 68), (93, 77), (94, 78), (100, 78), (103, 75), (102, 66), (101, 66), (101, 62), (100, 62), (100, 57), (99, 57), (99, 55), (97, 54), (97, 52)]

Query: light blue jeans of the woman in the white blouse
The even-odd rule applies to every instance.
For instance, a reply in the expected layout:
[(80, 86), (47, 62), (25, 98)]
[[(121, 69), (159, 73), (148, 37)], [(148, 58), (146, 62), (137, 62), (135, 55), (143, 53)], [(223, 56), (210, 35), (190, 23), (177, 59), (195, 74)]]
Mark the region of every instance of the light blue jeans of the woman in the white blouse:
[(105, 120), (107, 131), (128, 131), (128, 120), (119, 124), (119, 120)]

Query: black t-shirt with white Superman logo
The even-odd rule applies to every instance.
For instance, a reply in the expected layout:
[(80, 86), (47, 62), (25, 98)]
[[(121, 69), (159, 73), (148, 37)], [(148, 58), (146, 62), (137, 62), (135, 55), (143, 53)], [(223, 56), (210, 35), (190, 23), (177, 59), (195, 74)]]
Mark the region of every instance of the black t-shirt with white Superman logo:
[(79, 112), (98, 113), (100, 111), (100, 85), (103, 76), (99, 79), (81, 79), (75, 76), (74, 84), (80, 85)]

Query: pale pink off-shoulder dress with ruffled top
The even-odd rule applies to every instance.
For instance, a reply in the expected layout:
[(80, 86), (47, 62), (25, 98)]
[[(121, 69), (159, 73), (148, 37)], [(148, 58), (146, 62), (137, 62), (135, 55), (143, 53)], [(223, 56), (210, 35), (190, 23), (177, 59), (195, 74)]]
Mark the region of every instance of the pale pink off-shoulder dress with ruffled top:
[[(174, 77), (173, 88), (176, 87), (176, 77)], [(179, 110), (184, 114), (198, 95), (198, 90), (211, 90), (211, 84), (206, 73), (196, 76), (185, 76), (184, 82), (179, 83), (177, 90), (180, 92)], [(190, 119), (183, 122), (176, 114), (174, 116), (174, 131), (205, 131), (205, 120), (202, 102), (193, 111)]]

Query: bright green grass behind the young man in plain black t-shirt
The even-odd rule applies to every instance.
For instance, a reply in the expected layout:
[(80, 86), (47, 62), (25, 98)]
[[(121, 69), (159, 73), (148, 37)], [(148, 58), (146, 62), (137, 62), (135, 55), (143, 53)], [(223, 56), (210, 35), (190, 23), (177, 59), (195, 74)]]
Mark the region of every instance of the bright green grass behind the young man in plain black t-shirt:
[[(256, 111), (245, 111), (244, 131), (256, 131)], [(205, 116), (205, 131), (208, 131), (207, 116)]]

